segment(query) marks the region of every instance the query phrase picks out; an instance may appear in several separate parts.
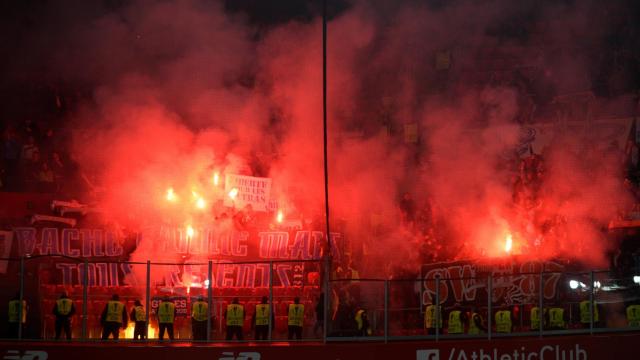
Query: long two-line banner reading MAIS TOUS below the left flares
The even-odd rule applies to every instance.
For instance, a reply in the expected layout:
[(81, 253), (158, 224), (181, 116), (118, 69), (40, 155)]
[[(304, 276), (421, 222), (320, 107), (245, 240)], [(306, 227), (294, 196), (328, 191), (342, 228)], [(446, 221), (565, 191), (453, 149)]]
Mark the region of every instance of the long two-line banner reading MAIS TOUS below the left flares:
[[(100, 228), (17, 227), (12, 237), (12, 254), (38, 263), (43, 284), (81, 285), (86, 267), (89, 286), (144, 286), (149, 260), (151, 285), (167, 288), (208, 286), (209, 262), (215, 288), (317, 285), (308, 279), (317, 279), (326, 243), (322, 231), (239, 231), (216, 225), (198, 228), (192, 235), (178, 227), (131, 234)], [(332, 233), (331, 240), (339, 244), (341, 234)], [(339, 257), (339, 247), (333, 248)]]

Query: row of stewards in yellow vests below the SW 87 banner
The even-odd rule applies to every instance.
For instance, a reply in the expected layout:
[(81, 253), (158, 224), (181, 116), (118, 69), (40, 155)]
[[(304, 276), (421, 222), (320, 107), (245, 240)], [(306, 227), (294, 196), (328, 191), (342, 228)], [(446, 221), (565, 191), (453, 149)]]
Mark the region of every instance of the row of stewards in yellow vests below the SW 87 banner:
[[(626, 320), (629, 327), (640, 328), (640, 305), (631, 304), (626, 307)], [(593, 315), (592, 315), (593, 314)], [(492, 331), (494, 333), (509, 334), (514, 331), (514, 311), (511, 307), (499, 307), (493, 312)], [(529, 330), (565, 330), (570, 326), (568, 311), (564, 306), (550, 307), (533, 306), (529, 312)], [(601, 327), (603, 325), (599, 305), (589, 300), (579, 303), (579, 318), (575, 321), (579, 328)], [(446, 325), (446, 326), (443, 326)], [(424, 311), (424, 327), (428, 335), (447, 334), (480, 335), (488, 331), (488, 322), (475, 306), (464, 309), (454, 305), (447, 314), (442, 306), (427, 305)], [(542, 328), (541, 328), (542, 326)]]

